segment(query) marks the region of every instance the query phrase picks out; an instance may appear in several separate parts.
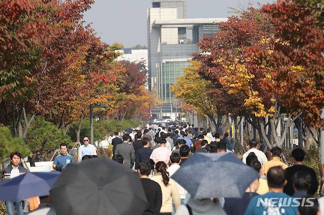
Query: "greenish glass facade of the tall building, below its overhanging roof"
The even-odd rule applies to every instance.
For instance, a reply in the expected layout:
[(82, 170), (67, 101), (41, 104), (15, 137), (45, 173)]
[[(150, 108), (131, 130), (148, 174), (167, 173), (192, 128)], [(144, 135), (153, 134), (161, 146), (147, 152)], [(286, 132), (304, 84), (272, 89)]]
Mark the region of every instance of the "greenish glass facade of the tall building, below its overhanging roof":
[(184, 68), (190, 65), (189, 61), (175, 61), (157, 63), (158, 95), (162, 101), (173, 102), (171, 85), (174, 85), (177, 78), (184, 75)]

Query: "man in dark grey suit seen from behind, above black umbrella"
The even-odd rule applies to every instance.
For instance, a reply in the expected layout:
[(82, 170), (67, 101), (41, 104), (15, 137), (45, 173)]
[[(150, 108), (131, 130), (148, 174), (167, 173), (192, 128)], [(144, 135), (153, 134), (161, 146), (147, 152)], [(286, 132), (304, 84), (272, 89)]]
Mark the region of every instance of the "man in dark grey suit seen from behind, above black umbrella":
[(129, 144), (130, 135), (123, 135), (123, 142), (116, 146), (115, 155), (122, 155), (124, 157), (124, 165), (133, 168), (135, 162), (134, 147)]

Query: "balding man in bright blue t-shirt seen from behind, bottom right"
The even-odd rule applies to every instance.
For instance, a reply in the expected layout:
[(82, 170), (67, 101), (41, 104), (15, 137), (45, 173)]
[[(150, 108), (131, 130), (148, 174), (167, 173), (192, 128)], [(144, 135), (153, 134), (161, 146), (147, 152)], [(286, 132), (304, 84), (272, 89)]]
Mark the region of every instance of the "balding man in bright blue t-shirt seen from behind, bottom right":
[(296, 215), (298, 202), (284, 193), (287, 184), (281, 166), (271, 167), (267, 173), (269, 192), (254, 197), (245, 215)]

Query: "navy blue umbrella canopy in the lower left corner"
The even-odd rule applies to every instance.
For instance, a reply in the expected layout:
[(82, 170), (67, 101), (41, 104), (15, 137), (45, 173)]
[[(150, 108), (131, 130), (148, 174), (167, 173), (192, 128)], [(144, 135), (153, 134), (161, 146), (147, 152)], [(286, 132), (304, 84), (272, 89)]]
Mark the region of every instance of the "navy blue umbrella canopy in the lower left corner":
[(59, 172), (28, 172), (0, 183), (0, 201), (20, 201), (33, 196), (49, 195)]

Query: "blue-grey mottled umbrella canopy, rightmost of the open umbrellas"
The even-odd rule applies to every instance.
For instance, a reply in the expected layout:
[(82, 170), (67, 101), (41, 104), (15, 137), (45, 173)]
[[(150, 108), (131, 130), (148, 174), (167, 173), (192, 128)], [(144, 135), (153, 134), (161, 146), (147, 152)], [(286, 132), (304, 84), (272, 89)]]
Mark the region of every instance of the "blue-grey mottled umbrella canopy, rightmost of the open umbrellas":
[(194, 153), (171, 176), (196, 199), (242, 197), (258, 177), (232, 153)]

